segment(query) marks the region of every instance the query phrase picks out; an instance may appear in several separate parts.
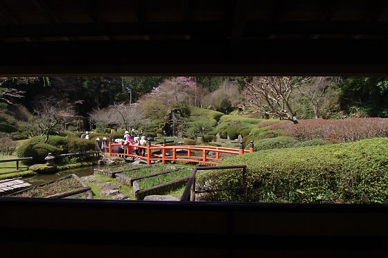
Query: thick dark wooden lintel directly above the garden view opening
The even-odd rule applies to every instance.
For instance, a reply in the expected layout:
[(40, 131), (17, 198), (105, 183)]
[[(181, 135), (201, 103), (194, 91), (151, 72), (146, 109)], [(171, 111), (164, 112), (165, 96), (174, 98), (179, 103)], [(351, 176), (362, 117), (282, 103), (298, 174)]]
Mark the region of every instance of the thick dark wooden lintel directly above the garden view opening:
[(364, 39), (273, 39), (239, 42), (233, 48), (225, 41), (1, 43), (0, 73), (387, 76), (387, 44)]

